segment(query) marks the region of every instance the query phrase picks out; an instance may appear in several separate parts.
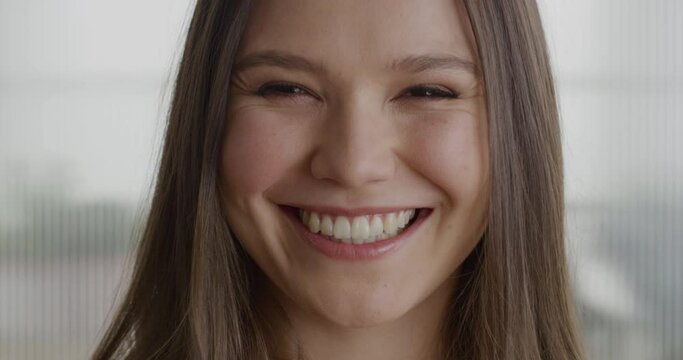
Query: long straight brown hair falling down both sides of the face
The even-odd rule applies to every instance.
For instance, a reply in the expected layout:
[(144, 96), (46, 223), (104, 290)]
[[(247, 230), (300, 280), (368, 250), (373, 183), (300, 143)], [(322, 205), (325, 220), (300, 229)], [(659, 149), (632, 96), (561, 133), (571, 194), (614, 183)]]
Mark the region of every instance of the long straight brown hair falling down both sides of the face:
[[(534, 0), (464, 0), (489, 121), (488, 228), (462, 264), (445, 359), (583, 359), (567, 278), (558, 112)], [(132, 281), (93, 358), (272, 359), (258, 270), (220, 207), (230, 73), (249, 0), (198, 0)]]

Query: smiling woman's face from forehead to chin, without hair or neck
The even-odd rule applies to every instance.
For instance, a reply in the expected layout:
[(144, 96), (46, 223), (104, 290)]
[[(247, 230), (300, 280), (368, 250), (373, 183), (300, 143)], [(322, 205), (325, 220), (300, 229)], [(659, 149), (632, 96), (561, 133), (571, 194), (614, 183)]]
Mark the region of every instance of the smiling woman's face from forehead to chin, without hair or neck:
[(285, 309), (368, 326), (448, 295), (489, 196), (472, 44), (453, 0), (256, 2), (220, 181)]

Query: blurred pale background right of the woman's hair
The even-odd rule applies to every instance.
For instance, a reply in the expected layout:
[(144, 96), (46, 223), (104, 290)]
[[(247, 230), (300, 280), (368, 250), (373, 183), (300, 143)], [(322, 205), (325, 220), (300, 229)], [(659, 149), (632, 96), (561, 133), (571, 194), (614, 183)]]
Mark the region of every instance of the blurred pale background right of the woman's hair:
[(683, 2), (541, 5), (590, 358), (683, 358)]

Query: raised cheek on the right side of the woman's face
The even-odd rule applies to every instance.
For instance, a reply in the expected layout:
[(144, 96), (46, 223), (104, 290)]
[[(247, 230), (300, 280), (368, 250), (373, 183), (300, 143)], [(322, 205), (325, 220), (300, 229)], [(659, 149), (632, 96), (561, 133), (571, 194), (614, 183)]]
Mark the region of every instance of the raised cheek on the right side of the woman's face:
[(421, 119), (411, 128), (413, 167), (453, 200), (476, 197), (488, 169), (485, 119), (468, 113)]

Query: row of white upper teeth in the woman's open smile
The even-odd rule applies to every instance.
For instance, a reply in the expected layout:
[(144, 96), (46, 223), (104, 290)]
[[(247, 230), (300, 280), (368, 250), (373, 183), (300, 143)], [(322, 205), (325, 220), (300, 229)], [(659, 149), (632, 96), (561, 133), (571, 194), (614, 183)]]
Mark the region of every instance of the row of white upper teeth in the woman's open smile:
[(348, 244), (363, 244), (383, 240), (398, 234), (415, 217), (415, 209), (386, 214), (348, 218), (299, 210), (299, 218), (312, 233), (331, 236)]

